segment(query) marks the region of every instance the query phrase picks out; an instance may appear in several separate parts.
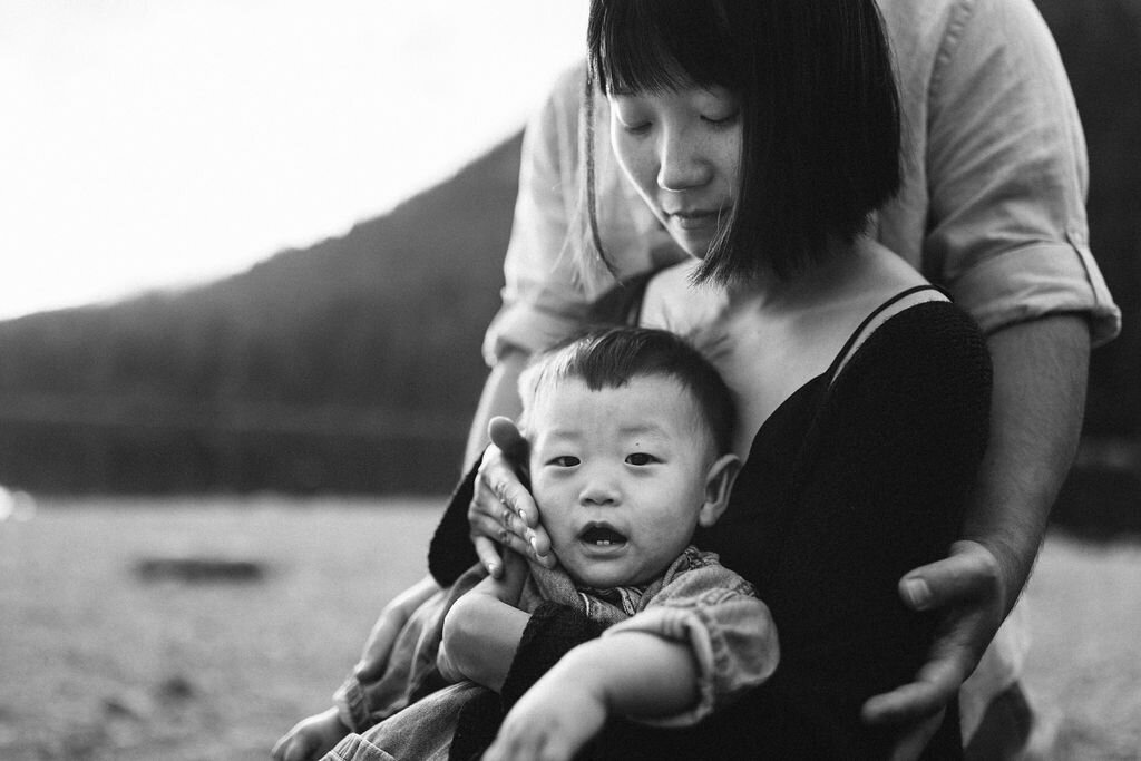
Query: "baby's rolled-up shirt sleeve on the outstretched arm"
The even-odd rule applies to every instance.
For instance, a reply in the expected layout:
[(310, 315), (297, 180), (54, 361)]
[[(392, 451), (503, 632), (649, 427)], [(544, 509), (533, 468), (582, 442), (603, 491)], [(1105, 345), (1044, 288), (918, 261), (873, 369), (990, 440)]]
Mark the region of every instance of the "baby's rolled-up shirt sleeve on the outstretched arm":
[(682, 574), (602, 637), (630, 631), (687, 643), (697, 663), (697, 704), (674, 717), (641, 720), (656, 727), (698, 723), (764, 682), (780, 657), (768, 607), (751, 584), (719, 565)]

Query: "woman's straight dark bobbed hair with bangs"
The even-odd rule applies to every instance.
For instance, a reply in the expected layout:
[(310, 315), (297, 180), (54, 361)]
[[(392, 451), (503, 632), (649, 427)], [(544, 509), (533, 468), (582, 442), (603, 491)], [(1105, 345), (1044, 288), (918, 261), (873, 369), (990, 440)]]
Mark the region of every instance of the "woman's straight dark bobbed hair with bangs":
[[(739, 99), (739, 187), (696, 280), (794, 274), (899, 187), (899, 97), (874, 0), (592, 0), (588, 47), (589, 89), (717, 84)], [(588, 205), (598, 248), (592, 194)]]

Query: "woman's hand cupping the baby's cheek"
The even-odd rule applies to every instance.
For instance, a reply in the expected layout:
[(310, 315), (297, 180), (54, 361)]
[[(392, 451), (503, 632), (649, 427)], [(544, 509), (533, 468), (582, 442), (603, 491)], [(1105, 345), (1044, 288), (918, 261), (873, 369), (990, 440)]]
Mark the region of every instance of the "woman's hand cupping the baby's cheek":
[(539, 523), (539, 509), (519, 480), (517, 465), (526, 464), (527, 442), (507, 418), (487, 423), (492, 444), (484, 451), (476, 478), (475, 495), (468, 508), (471, 540), (479, 562), (493, 577), (503, 573), (500, 547), (555, 567), (551, 540)]

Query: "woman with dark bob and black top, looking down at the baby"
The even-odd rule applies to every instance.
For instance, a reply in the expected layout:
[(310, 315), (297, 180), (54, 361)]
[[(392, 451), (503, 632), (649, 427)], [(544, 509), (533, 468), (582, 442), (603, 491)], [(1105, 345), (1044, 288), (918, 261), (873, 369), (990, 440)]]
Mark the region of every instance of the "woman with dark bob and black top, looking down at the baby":
[[(694, 278), (714, 286), (670, 270), (648, 286), (641, 314), (714, 347), (734, 390), (746, 464), (722, 525), (701, 544), (756, 584), (785, 654), (769, 685), (711, 726), (616, 721), (597, 748), (883, 755), (887, 738), (859, 721), (859, 706), (906, 681), (933, 635), (931, 621), (899, 604), (896, 583), (956, 535), (986, 445), (989, 364), (973, 324), (864, 236), (899, 181), (875, 6), (594, 0), (590, 59), (623, 170), (697, 260)], [(442, 581), (448, 565), (474, 559), (461, 515), (469, 499), (470, 489), (456, 495), (437, 535)], [(576, 626), (563, 610), (541, 610), (523, 629), (453, 623), (450, 657), (501, 685), (508, 703)], [(503, 642), (513, 659), (488, 658)], [(519, 710), (544, 709), (528, 697)], [(945, 721), (929, 751), (953, 755), (958, 745), (956, 722)]]

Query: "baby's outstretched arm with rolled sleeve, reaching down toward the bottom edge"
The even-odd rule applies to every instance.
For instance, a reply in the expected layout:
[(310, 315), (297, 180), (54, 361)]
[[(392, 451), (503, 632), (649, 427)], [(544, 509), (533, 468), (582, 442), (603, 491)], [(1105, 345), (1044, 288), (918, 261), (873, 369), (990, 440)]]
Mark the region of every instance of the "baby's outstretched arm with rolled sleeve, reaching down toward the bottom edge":
[(718, 565), (680, 578), (567, 653), (519, 698), (485, 758), (570, 759), (610, 717), (688, 726), (767, 680), (779, 646), (752, 588)]

